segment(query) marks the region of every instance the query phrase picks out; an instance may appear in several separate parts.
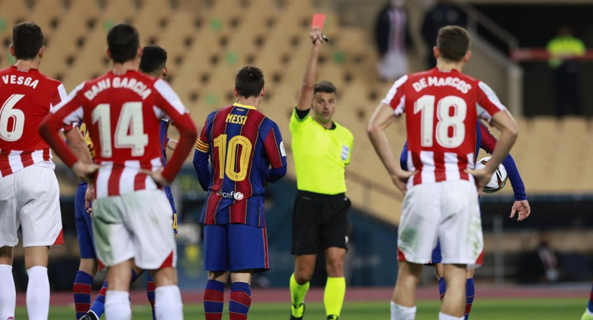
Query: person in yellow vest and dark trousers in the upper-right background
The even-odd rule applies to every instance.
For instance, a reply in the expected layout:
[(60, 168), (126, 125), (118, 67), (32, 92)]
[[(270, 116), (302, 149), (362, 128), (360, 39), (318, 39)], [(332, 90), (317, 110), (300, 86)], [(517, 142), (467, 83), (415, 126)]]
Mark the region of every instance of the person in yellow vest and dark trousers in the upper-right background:
[(570, 108), (581, 115), (581, 85), (579, 62), (574, 58), (585, 54), (585, 44), (572, 35), (570, 27), (563, 26), (546, 47), (550, 53), (549, 64), (554, 69), (554, 95), (556, 112), (562, 117)]

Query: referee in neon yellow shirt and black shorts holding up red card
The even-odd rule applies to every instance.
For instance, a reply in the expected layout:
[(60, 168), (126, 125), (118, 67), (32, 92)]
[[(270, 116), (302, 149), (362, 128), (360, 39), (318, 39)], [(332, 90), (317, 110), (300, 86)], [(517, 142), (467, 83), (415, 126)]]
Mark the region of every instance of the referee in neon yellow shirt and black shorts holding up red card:
[(339, 318), (346, 293), (343, 266), (350, 200), (345, 196), (345, 168), (350, 162), (354, 137), (350, 130), (331, 120), (336, 108), (336, 87), (326, 81), (315, 84), (322, 34), (315, 29), (310, 36), (313, 48), (290, 120), (298, 187), (292, 212), (295, 271), (290, 280), (291, 320), (303, 318), (303, 302), (320, 248), (324, 250), (328, 276), (323, 296), (327, 319)]

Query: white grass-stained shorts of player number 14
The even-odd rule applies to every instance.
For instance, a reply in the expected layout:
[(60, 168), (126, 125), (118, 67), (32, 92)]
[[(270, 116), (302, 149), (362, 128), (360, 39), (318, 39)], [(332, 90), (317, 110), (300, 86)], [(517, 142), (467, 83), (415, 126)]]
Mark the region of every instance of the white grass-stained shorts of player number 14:
[(145, 270), (177, 265), (173, 209), (162, 190), (142, 190), (93, 202), (97, 258), (107, 267), (134, 258)]

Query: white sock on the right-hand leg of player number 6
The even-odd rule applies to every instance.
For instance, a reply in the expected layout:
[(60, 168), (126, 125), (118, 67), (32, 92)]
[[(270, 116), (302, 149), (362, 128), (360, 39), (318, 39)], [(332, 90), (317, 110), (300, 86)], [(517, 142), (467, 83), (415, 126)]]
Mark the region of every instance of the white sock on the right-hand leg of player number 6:
[(36, 265), (27, 270), (27, 314), (30, 320), (47, 320), (49, 315), (49, 279), (47, 268)]

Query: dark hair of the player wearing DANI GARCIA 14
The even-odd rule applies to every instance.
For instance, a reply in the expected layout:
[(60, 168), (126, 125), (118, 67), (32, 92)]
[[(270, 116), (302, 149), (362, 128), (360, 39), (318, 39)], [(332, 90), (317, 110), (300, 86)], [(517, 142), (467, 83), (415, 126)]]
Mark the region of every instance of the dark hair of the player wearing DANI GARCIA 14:
[(107, 46), (113, 62), (124, 63), (134, 59), (140, 46), (138, 30), (127, 23), (114, 25), (107, 34)]

